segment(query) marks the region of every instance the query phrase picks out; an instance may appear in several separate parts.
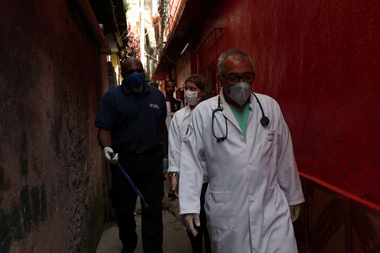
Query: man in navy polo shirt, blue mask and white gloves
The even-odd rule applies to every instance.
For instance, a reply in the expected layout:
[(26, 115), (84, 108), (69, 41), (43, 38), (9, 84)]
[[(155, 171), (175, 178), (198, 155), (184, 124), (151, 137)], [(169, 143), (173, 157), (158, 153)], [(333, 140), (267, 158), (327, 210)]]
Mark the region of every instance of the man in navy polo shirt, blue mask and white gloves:
[(116, 210), (122, 253), (132, 253), (136, 248), (137, 195), (118, 162), (149, 205), (147, 209), (142, 207), (141, 213), (144, 252), (162, 253), (162, 159), (167, 154), (165, 98), (160, 90), (146, 83), (145, 71), (137, 58), (124, 60), (122, 76), (122, 84), (104, 95), (95, 122), (99, 144), (111, 165), (109, 194)]

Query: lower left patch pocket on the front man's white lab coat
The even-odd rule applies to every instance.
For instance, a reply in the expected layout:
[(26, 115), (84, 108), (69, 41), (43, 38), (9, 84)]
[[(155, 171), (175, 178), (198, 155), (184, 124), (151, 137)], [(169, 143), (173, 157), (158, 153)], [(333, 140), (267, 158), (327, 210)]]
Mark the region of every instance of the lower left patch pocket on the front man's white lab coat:
[(232, 192), (210, 192), (210, 227), (220, 230), (233, 230), (236, 226), (235, 201)]

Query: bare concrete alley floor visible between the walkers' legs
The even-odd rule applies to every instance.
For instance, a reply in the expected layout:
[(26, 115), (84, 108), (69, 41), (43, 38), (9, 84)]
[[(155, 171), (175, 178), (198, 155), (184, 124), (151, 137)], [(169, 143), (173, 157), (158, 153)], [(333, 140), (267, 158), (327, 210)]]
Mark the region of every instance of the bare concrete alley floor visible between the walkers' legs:
[[(178, 199), (167, 198), (169, 180), (165, 180), (165, 198), (163, 202), (163, 252), (164, 253), (191, 253), (190, 241), (185, 228), (180, 224), (178, 217)], [(143, 253), (141, 241), (141, 214), (140, 203), (136, 204), (136, 232), (138, 235), (135, 253)], [(122, 244), (119, 240), (119, 230), (114, 222), (107, 222), (99, 241), (96, 253), (120, 253)]]

